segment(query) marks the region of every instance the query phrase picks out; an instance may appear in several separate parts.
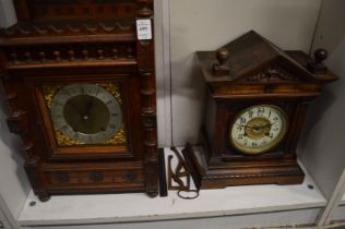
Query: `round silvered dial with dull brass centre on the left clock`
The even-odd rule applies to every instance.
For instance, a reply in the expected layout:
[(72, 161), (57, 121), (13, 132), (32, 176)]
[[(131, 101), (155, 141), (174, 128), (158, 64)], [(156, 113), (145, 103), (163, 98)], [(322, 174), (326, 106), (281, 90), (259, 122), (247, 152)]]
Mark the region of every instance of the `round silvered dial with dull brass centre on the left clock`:
[(95, 84), (62, 87), (53, 96), (50, 111), (55, 129), (85, 144), (105, 143), (122, 125), (118, 100)]

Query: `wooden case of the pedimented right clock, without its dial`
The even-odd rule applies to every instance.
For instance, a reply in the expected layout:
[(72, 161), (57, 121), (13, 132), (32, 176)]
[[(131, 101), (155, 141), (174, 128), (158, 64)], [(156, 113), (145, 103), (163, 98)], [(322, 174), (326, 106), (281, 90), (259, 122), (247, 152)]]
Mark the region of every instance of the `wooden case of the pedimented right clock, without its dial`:
[[(205, 82), (204, 153), (190, 145), (194, 180), (201, 189), (243, 184), (298, 184), (304, 172), (296, 147), (309, 104), (323, 84), (335, 81), (326, 68), (302, 51), (283, 51), (251, 31), (216, 51), (198, 51)], [(217, 60), (218, 59), (218, 60)], [(317, 65), (317, 68), (314, 68)], [(309, 68), (308, 68), (309, 67)], [(230, 126), (251, 106), (273, 105), (287, 114), (287, 133), (269, 152), (242, 154), (230, 143)]]

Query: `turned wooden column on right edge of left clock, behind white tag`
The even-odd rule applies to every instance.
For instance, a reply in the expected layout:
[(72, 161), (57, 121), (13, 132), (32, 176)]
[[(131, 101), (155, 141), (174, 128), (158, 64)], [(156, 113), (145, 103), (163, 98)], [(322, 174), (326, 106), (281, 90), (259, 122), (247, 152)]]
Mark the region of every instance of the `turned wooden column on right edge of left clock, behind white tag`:
[[(141, 4), (138, 19), (151, 19), (153, 21), (152, 0), (138, 0), (138, 2)], [(136, 46), (141, 76), (141, 116), (144, 132), (146, 193), (154, 197), (158, 194), (154, 43), (153, 40), (138, 40)]]

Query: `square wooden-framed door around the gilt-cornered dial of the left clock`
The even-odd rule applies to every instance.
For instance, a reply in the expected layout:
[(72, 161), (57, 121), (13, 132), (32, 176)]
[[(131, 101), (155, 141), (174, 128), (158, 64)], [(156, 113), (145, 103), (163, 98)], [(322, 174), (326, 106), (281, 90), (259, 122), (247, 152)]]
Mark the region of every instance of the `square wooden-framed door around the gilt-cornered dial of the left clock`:
[(129, 110), (140, 101), (138, 95), (129, 95), (129, 88), (139, 89), (138, 77), (74, 79), (59, 84), (53, 76), (33, 84), (39, 85), (34, 100), (50, 145), (48, 158), (141, 158), (131, 126), (140, 116)]

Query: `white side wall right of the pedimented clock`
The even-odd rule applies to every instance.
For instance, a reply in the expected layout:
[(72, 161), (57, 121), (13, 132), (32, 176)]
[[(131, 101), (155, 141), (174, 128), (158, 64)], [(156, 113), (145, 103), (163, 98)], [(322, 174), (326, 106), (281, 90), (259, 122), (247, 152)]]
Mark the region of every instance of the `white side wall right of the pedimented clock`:
[(345, 168), (345, 1), (323, 1), (312, 49), (325, 47), (325, 61), (340, 81), (328, 85), (312, 104), (300, 152), (321, 191), (329, 198)]

